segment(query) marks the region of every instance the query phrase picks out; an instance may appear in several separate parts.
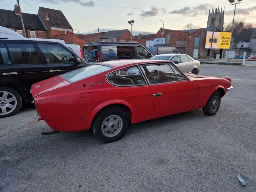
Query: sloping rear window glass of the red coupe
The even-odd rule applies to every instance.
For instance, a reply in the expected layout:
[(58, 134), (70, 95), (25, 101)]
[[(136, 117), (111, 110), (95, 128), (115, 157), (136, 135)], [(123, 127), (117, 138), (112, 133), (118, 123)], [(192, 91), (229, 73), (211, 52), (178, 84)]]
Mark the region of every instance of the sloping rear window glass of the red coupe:
[(81, 79), (85, 79), (87, 77), (97, 75), (97, 74), (107, 71), (109, 69), (112, 69), (112, 68), (108, 67), (106, 65), (95, 64), (95, 65), (90, 65), (90, 66), (83, 67), (80, 69), (76, 69), (76, 70), (70, 71), (68, 73), (64, 73), (60, 76), (67, 79), (69, 82), (74, 83)]

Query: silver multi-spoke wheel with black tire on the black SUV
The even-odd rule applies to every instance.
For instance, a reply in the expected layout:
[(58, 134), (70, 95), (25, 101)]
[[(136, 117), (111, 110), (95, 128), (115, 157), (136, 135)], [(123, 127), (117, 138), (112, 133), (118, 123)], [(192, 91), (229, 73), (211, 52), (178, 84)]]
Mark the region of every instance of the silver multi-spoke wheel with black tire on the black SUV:
[[(6, 100), (2, 99), (4, 98), (4, 92), (5, 94), (8, 92), (8, 98), (13, 97), (16, 100), (15, 101), (11, 101), (9, 102), (9, 104), (14, 105), (15, 108), (8, 108), (8, 102), (6, 102)], [(9, 117), (9, 116), (13, 116), (16, 113), (19, 112), (20, 108), (22, 105), (22, 99), (20, 96), (20, 93), (18, 93), (16, 90), (10, 88), (10, 87), (0, 87), (0, 118), (4, 118), (4, 117)], [(4, 111), (6, 110), (6, 112)], [(3, 114), (4, 113), (4, 114)]]

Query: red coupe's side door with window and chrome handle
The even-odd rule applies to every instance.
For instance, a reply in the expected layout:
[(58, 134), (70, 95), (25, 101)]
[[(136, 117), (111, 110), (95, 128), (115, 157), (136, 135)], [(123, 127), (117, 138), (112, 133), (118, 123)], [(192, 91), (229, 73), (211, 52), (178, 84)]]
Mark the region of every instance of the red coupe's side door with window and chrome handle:
[(149, 90), (157, 114), (196, 105), (198, 83), (187, 79), (176, 66), (153, 64), (143, 65), (141, 69), (148, 78)]

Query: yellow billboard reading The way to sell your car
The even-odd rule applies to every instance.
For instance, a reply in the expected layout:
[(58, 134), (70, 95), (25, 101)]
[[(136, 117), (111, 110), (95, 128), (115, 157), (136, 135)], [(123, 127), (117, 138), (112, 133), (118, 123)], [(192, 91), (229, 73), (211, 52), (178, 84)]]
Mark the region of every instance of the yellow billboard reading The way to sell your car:
[(205, 39), (205, 49), (229, 49), (231, 43), (230, 32), (214, 32), (212, 38), (212, 31), (207, 31)]

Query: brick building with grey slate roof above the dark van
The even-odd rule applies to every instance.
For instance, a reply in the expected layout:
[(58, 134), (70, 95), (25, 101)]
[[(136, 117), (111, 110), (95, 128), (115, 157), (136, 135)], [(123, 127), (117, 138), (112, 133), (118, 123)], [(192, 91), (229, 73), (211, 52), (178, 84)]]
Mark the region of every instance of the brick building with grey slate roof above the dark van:
[[(136, 40), (133, 35), (132, 39)], [(100, 37), (100, 41), (131, 42), (131, 32), (128, 29), (108, 31)]]

